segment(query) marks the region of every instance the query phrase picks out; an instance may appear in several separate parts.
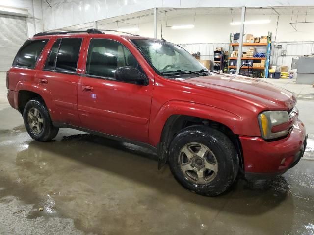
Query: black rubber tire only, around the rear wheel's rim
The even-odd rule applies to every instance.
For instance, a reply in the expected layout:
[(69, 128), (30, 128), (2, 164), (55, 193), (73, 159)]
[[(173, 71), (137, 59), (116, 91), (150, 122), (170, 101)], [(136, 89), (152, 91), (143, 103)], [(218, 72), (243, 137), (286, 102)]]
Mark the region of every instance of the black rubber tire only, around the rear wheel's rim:
[[(34, 110), (33, 108), (39, 111), (40, 117), (42, 118), (40, 133), (36, 133), (36, 131), (31, 128), (28, 120), (29, 111)], [(58, 134), (59, 128), (53, 126), (46, 105), (40, 98), (31, 99), (26, 103), (23, 111), (23, 119), (26, 131), (30, 137), (36, 141), (51, 141)]]

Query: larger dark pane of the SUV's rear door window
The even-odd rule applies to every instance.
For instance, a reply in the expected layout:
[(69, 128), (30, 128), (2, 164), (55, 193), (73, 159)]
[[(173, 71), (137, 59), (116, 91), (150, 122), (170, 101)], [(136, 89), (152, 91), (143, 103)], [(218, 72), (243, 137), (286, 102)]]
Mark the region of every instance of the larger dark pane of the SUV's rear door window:
[(57, 53), (56, 71), (76, 72), (81, 38), (62, 38)]

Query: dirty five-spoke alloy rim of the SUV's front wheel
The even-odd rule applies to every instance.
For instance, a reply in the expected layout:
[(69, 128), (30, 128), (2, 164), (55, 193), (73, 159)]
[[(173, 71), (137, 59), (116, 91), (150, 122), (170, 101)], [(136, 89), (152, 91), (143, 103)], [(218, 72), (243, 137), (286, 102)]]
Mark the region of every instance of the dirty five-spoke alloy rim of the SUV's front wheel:
[(218, 173), (216, 156), (202, 143), (185, 144), (179, 153), (179, 165), (184, 176), (196, 184), (208, 184)]

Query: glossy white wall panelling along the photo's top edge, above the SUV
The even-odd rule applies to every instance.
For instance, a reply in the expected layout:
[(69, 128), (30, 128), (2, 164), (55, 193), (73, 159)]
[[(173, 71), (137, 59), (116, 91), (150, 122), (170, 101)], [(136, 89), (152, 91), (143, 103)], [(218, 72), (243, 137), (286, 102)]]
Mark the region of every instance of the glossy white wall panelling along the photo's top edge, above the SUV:
[[(53, 30), (94, 20), (161, 7), (161, 0), (50, 0), (42, 9), (44, 29)], [(313, 0), (164, 0), (164, 7), (314, 6)], [(71, 17), (72, 16), (72, 17)], [(217, 22), (218, 23), (218, 22)]]

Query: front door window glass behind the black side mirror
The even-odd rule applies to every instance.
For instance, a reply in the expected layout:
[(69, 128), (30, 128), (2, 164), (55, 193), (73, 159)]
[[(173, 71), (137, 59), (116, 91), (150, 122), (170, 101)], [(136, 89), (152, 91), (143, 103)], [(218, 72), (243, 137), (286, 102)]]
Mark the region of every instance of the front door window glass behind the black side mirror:
[(127, 47), (110, 39), (91, 39), (86, 74), (114, 78), (116, 69), (123, 66), (138, 67), (137, 60)]

